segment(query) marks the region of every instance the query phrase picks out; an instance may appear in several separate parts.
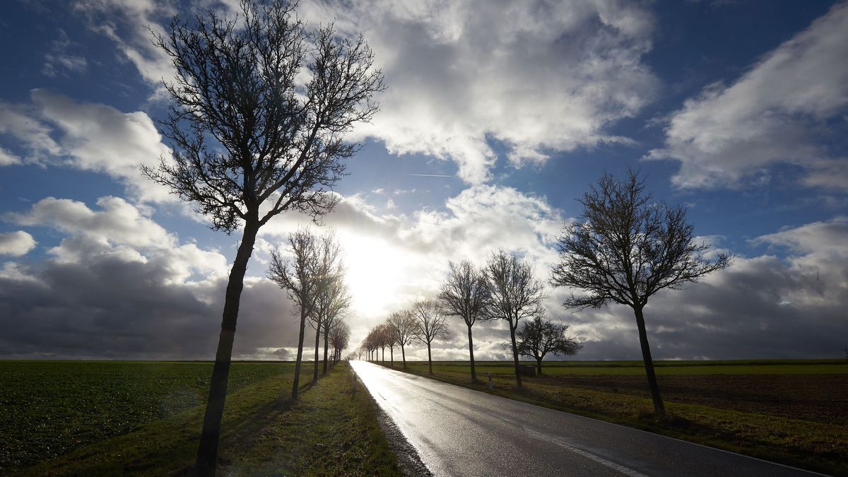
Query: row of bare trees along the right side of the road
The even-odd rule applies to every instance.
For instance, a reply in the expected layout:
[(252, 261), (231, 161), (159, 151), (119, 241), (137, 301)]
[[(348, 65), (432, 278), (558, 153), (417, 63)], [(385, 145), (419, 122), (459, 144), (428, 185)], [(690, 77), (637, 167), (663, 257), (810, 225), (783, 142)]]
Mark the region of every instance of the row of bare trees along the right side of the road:
[[(558, 239), (560, 261), (551, 271), (550, 284), (583, 291), (566, 298), (562, 305), (568, 309), (599, 308), (608, 303), (633, 309), (654, 411), (663, 416), (644, 307), (662, 289), (681, 289), (728, 267), (733, 255), (711, 252), (709, 244), (696, 242), (686, 209), (654, 201), (638, 171), (629, 170), (623, 180), (605, 173), (578, 201), (583, 213), (579, 220), (566, 224)], [(518, 356), (533, 356), (541, 372), (546, 354), (572, 355), (580, 349), (573, 337), (566, 336), (568, 325), (555, 325), (544, 317), (544, 298), (544, 284), (534, 278), (532, 267), (504, 250), (491, 255), (481, 269), (469, 261), (449, 263), (438, 308), (466, 323), (471, 379), (477, 379), (471, 334), (477, 322), (502, 319), (509, 324), (510, 343), (506, 346), (512, 350), (519, 387)], [(379, 329), (369, 334), (364, 344), (367, 350), (390, 345), (393, 334)], [(429, 345), (427, 351), (429, 356)], [(430, 370), (432, 373), (432, 362)]]

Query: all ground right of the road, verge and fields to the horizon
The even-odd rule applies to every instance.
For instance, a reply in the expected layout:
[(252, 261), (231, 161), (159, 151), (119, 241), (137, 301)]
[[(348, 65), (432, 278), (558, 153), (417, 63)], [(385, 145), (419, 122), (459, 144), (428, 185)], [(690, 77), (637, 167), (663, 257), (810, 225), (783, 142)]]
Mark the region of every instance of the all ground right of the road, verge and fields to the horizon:
[[(390, 366), (389, 362), (381, 362)], [(535, 365), (535, 362), (522, 362)], [(427, 362), (407, 362), (429, 376)], [(649, 430), (818, 472), (848, 475), (845, 360), (659, 361), (669, 418), (657, 421), (642, 362), (544, 362), (517, 389), (512, 362), (433, 362), (432, 376), (539, 406)], [(402, 364), (394, 362), (395, 369)]]

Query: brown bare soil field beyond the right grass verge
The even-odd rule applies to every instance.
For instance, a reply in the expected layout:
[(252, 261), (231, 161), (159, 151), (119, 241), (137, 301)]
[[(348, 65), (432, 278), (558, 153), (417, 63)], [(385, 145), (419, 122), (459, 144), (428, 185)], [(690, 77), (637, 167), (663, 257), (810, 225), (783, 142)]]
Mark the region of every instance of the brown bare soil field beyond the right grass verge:
[[(527, 379), (527, 378), (526, 378)], [(848, 374), (658, 376), (665, 401), (848, 425)], [(538, 384), (648, 397), (644, 376), (544, 376)]]

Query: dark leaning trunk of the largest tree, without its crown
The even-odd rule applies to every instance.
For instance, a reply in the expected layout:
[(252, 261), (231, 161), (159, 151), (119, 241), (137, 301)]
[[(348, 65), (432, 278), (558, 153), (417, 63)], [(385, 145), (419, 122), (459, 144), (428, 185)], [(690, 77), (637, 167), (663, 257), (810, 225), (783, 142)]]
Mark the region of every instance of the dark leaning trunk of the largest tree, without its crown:
[(198, 458), (195, 461), (195, 473), (198, 475), (215, 475), (215, 464), (218, 460), (220, 420), (224, 416), (226, 385), (230, 377), (232, 342), (236, 337), (238, 305), (242, 298), (242, 289), (244, 288), (244, 273), (248, 270), (250, 255), (254, 252), (257, 232), (259, 232), (258, 221), (249, 220), (245, 222), (242, 244), (238, 246), (236, 260), (232, 262), (230, 278), (226, 283), (224, 312), (220, 323), (218, 350), (215, 351), (215, 365), (212, 368), (212, 380), (209, 383), (209, 400), (206, 402), (204, 428), (200, 434)]

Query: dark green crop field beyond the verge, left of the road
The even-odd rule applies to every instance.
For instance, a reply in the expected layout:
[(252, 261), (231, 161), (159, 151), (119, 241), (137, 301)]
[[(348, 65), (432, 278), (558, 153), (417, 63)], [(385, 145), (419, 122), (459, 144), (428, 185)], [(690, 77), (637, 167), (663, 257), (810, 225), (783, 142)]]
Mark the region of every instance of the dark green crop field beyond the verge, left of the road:
[[(233, 363), (229, 391), (290, 364)], [(0, 474), (205, 402), (208, 362), (0, 361)]]

